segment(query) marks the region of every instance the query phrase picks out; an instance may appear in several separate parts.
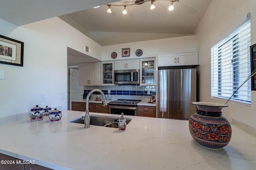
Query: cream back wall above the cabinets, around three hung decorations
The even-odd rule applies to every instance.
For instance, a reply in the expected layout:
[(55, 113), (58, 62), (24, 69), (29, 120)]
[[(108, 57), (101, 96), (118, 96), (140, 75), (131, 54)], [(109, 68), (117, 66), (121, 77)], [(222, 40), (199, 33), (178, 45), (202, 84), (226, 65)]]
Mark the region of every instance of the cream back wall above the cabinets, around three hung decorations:
[[(123, 48), (130, 48), (130, 57), (122, 57)], [(135, 52), (137, 49), (142, 50), (142, 56), (136, 56)], [(156, 57), (156, 54), (162, 53), (181, 53), (191, 51), (196, 51), (196, 35), (117, 45), (106, 45), (102, 47), (102, 61), (141, 59), (147, 57)], [(117, 53), (116, 59), (111, 58), (112, 52)]]

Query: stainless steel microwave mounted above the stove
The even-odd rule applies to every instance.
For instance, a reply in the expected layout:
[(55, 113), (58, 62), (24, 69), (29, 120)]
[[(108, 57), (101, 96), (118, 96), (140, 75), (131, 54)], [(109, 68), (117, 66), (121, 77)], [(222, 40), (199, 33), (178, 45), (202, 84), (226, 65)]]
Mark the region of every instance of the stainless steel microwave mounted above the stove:
[(140, 70), (114, 70), (114, 84), (140, 84)]

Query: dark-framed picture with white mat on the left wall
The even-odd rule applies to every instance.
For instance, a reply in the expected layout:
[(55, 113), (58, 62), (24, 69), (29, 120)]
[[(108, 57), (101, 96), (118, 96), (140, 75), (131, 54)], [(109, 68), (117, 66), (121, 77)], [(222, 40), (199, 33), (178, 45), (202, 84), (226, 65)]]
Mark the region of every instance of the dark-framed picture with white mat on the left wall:
[(0, 63), (23, 66), (24, 43), (0, 35)]

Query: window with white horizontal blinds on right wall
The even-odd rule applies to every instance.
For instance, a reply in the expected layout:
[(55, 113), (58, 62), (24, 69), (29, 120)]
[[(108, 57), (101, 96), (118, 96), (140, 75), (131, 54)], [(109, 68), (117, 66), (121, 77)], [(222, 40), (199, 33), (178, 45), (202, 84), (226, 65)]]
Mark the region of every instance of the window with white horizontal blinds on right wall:
[[(212, 47), (212, 97), (228, 99), (250, 76), (250, 19)], [(251, 82), (231, 100), (251, 103)]]

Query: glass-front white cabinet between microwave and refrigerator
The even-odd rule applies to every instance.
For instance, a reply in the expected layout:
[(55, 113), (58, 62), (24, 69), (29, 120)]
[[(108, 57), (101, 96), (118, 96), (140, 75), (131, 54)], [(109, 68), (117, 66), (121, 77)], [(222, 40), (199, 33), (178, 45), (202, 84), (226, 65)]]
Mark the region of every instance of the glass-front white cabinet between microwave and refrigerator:
[(140, 86), (156, 86), (156, 58), (140, 59)]

